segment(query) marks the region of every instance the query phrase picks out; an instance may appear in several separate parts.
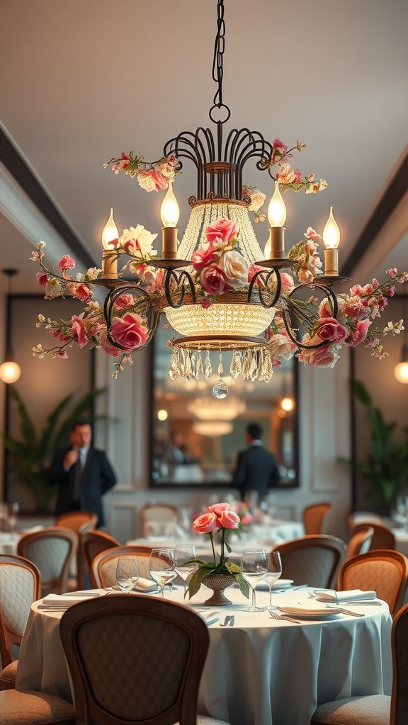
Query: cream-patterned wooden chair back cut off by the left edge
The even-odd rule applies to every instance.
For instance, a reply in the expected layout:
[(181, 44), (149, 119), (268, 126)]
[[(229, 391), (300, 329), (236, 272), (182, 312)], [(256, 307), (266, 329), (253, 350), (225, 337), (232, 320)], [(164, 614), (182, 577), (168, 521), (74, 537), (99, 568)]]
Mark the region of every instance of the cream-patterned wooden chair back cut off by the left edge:
[(15, 687), (21, 640), (31, 605), (40, 597), (36, 565), (17, 555), (0, 555), (0, 690)]

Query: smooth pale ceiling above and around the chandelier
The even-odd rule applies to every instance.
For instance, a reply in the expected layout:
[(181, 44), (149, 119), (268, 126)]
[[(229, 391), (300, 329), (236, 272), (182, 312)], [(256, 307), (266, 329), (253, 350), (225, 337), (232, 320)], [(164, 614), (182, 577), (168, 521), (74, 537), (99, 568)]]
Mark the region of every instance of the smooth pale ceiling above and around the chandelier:
[[(407, 269), (407, 188), (368, 236), (364, 229), (407, 157), (408, 4), (225, 0), (225, 20), (232, 125), (290, 146), (301, 139), (307, 148), (293, 164), (328, 182), (316, 196), (285, 196), (287, 248), (308, 226), (321, 233), (332, 205), (340, 264), (362, 236), (372, 242), (352, 263), (356, 281)], [(215, 35), (216, 0), (0, 0), (2, 129), (98, 266), (110, 207), (120, 232), (138, 223), (160, 232), (163, 198), (103, 162), (130, 149), (159, 159), (179, 131), (208, 125)], [(267, 175), (246, 170), (245, 183), (269, 196)], [(54, 262), (68, 250), (4, 164), (0, 175), (2, 266), (20, 270), (13, 291), (38, 291), (32, 244), (44, 239)], [(175, 193), (182, 230), (195, 193), (187, 163)], [(256, 225), (261, 247), (266, 227)]]

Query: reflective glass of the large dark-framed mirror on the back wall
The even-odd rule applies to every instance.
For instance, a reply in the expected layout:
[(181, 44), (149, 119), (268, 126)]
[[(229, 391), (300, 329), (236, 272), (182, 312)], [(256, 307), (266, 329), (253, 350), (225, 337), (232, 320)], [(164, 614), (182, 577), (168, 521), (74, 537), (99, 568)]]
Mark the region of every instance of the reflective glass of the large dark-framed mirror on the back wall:
[(230, 484), (237, 453), (245, 448), (245, 428), (255, 422), (264, 431), (264, 447), (277, 457), (279, 486), (298, 486), (297, 363), (285, 360), (281, 368), (274, 368), (269, 383), (251, 383), (242, 376), (234, 382), (227, 374), (231, 354), (224, 352), (223, 379), (229, 394), (217, 399), (216, 353), (211, 353), (208, 381), (171, 381), (170, 337), (171, 331), (161, 323), (152, 346), (152, 486)]

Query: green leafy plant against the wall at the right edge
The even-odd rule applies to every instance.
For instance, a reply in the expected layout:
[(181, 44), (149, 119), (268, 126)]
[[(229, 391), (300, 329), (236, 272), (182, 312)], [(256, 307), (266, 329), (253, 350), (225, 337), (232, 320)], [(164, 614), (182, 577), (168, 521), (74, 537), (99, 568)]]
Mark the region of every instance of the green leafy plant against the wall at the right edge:
[(378, 504), (390, 508), (401, 490), (408, 485), (408, 428), (403, 428), (405, 440), (397, 440), (393, 436), (397, 423), (385, 422), (362, 382), (353, 380), (351, 386), (354, 395), (365, 407), (371, 428), (367, 460), (348, 463), (354, 463), (369, 482), (367, 493), (374, 492)]

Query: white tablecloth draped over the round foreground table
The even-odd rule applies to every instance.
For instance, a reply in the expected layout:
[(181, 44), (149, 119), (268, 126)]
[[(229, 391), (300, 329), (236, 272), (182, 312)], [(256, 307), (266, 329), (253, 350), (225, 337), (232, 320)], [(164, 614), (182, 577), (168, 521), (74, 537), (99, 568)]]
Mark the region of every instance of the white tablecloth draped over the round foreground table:
[[(210, 630), (210, 649), (200, 685), (200, 713), (232, 725), (309, 725), (317, 705), (336, 697), (391, 692), (391, 616), (388, 606), (359, 606), (364, 617), (338, 615), (302, 624), (279, 622), (267, 611), (247, 613), (238, 589), (225, 592), (234, 627)], [(201, 587), (192, 606), (211, 592)], [(129, 595), (131, 596), (131, 595)], [(257, 592), (257, 603), (269, 595)], [(308, 590), (273, 595), (280, 605), (304, 601)], [(183, 602), (183, 589), (171, 595)], [(191, 604), (191, 602), (189, 602)], [(357, 609), (356, 609), (357, 610)], [(62, 613), (34, 604), (20, 650), (17, 689), (37, 689), (70, 700), (70, 684), (58, 626)]]

